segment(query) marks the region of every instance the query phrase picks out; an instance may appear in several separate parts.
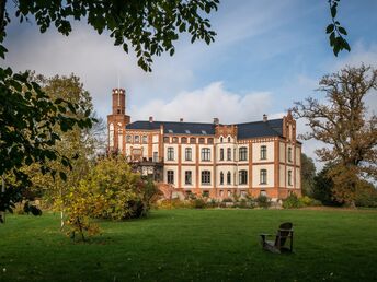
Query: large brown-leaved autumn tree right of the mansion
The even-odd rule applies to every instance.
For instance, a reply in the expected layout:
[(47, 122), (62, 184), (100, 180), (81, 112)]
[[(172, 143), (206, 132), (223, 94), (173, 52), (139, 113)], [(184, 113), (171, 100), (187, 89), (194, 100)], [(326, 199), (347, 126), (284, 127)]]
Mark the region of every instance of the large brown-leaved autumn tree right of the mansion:
[(366, 95), (376, 95), (377, 70), (364, 64), (346, 67), (324, 75), (319, 84), (327, 102), (309, 97), (295, 103), (294, 113), (311, 128), (304, 139), (327, 144), (316, 154), (322, 162), (333, 163), (329, 175), (334, 197), (354, 205), (361, 178), (377, 179), (377, 116), (365, 106)]

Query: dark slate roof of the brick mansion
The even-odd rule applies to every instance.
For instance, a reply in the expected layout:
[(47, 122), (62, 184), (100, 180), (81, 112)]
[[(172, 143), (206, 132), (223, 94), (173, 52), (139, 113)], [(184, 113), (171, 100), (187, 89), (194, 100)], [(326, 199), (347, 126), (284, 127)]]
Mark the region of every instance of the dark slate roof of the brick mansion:
[[(163, 133), (173, 134), (215, 134), (214, 124), (181, 122), (181, 121), (135, 121), (126, 126), (126, 129), (156, 130), (163, 125)], [(266, 122), (254, 121), (235, 124), (238, 127), (238, 139), (256, 137), (278, 137), (283, 132), (283, 119), (271, 119)]]

